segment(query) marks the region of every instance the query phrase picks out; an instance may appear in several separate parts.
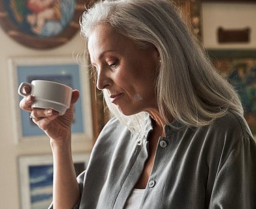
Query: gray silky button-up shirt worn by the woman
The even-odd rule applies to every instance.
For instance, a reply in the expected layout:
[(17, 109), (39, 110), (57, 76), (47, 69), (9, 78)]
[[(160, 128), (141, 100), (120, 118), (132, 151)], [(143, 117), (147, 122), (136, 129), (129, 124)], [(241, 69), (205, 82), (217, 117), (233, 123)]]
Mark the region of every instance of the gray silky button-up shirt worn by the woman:
[[(147, 136), (113, 118), (77, 179), (81, 199), (74, 208), (124, 208), (148, 155)], [(244, 118), (227, 112), (212, 125), (189, 128), (179, 121), (165, 126), (140, 208), (256, 208), (256, 143)]]

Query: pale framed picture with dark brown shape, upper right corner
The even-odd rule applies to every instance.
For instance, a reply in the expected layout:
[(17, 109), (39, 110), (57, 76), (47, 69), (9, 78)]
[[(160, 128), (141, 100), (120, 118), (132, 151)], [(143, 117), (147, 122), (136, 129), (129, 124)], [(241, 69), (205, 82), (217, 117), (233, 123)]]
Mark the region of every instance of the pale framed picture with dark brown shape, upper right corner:
[[(255, 0), (203, 0), (202, 36), (206, 48), (248, 49), (256, 46)], [(228, 11), (228, 12), (227, 12)]]

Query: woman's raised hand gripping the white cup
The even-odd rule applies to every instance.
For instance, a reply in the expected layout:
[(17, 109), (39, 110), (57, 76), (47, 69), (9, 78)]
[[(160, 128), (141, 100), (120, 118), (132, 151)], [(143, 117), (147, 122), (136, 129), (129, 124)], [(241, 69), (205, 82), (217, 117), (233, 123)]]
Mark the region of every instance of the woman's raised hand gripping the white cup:
[[(30, 89), (26, 86), (23, 91), (29, 93)], [(33, 123), (38, 125), (51, 140), (61, 144), (70, 139), (71, 125), (74, 118), (74, 103), (76, 103), (78, 99), (79, 91), (74, 90), (70, 108), (66, 110), (66, 113), (62, 116), (59, 116), (59, 112), (52, 109), (32, 109), (31, 105), (34, 101), (34, 97), (31, 95), (24, 97), (20, 101), (20, 108), (31, 112)]]

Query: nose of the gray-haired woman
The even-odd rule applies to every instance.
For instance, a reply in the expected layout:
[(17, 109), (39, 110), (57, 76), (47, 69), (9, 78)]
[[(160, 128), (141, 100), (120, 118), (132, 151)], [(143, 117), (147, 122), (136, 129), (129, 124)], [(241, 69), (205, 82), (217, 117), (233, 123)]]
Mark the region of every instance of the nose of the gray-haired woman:
[(98, 75), (97, 75), (97, 89), (103, 90), (109, 88), (112, 84), (111, 75), (110, 72), (107, 69), (100, 68), (98, 69)]

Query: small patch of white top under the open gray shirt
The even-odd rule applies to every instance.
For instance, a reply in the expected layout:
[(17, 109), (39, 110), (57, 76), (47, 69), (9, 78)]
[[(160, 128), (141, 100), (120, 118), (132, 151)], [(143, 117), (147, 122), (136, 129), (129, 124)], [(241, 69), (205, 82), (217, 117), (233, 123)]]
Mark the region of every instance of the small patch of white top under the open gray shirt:
[(124, 208), (139, 209), (145, 189), (134, 189), (126, 201)]

